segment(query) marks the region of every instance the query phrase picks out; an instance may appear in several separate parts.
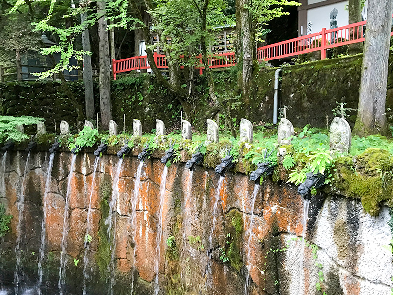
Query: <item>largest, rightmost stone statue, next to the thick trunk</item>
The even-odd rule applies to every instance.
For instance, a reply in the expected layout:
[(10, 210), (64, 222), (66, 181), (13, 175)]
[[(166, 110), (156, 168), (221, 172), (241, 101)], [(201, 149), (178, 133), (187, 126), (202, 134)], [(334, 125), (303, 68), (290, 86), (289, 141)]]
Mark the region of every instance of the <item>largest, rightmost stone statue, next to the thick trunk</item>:
[(344, 118), (335, 117), (329, 130), (331, 150), (349, 152), (351, 149), (351, 127)]

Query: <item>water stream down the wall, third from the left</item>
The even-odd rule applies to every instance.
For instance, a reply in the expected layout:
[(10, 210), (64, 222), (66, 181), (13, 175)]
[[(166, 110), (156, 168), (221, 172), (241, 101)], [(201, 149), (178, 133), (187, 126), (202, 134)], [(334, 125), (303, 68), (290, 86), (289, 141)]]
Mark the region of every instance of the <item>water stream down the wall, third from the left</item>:
[(49, 186), (51, 184), (51, 174), (52, 174), (52, 167), (53, 167), (53, 159), (55, 157), (55, 153), (51, 153), (49, 156), (49, 163), (48, 163), (48, 170), (47, 170), (47, 177), (45, 182), (45, 193), (42, 198), (43, 204), (43, 214), (42, 214), (42, 221), (41, 221), (41, 245), (40, 245), (40, 257), (38, 261), (38, 295), (41, 295), (41, 287), (42, 287), (42, 263), (44, 261), (44, 254), (45, 254), (45, 237), (46, 237), (46, 199), (49, 192)]

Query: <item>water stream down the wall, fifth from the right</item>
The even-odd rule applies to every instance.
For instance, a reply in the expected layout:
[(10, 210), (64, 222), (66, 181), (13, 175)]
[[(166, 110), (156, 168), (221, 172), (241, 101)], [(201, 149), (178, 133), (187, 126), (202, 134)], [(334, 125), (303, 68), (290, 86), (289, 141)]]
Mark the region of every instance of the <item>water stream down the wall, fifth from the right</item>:
[(160, 267), (160, 254), (161, 254), (161, 238), (163, 236), (163, 209), (164, 209), (164, 200), (165, 200), (165, 185), (167, 182), (167, 173), (168, 167), (165, 166), (163, 170), (163, 174), (161, 176), (161, 184), (160, 184), (160, 205), (158, 207), (158, 220), (157, 220), (157, 236), (156, 236), (156, 261), (154, 265), (154, 272), (156, 273), (155, 278), (155, 286), (154, 286), (154, 294), (158, 295), (160, 292), (160, 286), (158, 284), (158, 274)]

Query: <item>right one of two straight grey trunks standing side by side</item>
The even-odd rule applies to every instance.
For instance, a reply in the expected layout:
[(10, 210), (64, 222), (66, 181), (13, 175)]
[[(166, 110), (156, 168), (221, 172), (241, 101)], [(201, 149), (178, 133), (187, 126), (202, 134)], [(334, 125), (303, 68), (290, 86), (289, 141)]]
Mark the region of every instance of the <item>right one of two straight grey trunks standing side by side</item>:
[(109, 61), (109, 41), (107, 20), (105, 18), (105, 1), (97, 2), (98, 15), (98, 47), (100, 51), (100, 108), (101, 128), (108, 130), (109, 120), (112, 119), (111, 108), (111, 73)]

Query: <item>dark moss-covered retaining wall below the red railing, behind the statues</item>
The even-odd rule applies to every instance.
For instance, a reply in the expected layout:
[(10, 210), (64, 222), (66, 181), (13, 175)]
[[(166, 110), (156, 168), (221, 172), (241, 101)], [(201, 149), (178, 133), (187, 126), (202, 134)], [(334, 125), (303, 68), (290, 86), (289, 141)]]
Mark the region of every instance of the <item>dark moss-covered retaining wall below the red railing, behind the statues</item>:
[[(393, 106), (393, 66), (392, 56), (389, 60), (387, 107)], [(325, 59), (307, 64), (282, 67), (281, 101), (279, 107), (287, 106), (287, 118), (294, 126), (325, 127), (326, 116), (329, 121), (334, 118), (332, 109), (336, 102), (345, 102), (346, 108), (356, 109), (359, 97), (359, 82), (362, 56), (339, 59)], [(250, 99), (251, 109), (246, 115), (237, 96), (231, 99), (232, 116), (240, 121), (248, 118), (253, 122), (271, 122), (273, 118), (274, 72), (276, 69), (260, 70), (255, 76)], [(224, 77), (227, 75), (228, 77)], [(217, 91), (222, 95), (236, 93), (236, 72), (217, 73)], [(199, 79), (199, 88), (208, 91), (205, 79)], [(221, 82), (220, 82), (221, 81)], [(229, 82), (228, 82), (229, 81)], [(231, 82), (230, 82), (231, 81)], [(82, 81), (70, 82), (69, 87), (77, 102), (84, 110), (84, 85)], [(225, 86), (224, 86), (225, 85)], [(228, 92), (229, 91), (229, 92)], [(126, 129), (132, 130), (132, 119), (138, 118), (145, 131), (155, 128), (155, 119), (164, 121), (167, 127), (173, 127), (180, 117), (180, 104), (172, 95), (160, 86), (154, 76), (125, 76), (111, 85), (113, 119), (121, 126), (123, 114), (126, 115)], [(194, 102), (196, 119), (193, 126), (204, 130), (204, 123), (210, 114), (206, 95), (200, 91)], [(232, 95), (231, 95), (232, 96)], [(233, 95), (233, 97), (236, 97)], [(229, 100), (228, 100), (229, 101)], [(99, 112), (98, 83), (95, 84), (96, 112)], [(53, 132), (53, 121), (60, 124), (67, 120), (76, 126), (76, 112), (72, 109), (69, 97), (60, 82), (10, 82), (0, 85), (0, 114), (32, 115), (46, 119), (48, 131)], [(350, 124), (356, 119), (356, 112), (349, 114)], [(121, 130), (121, 128), (120, 128)]]

